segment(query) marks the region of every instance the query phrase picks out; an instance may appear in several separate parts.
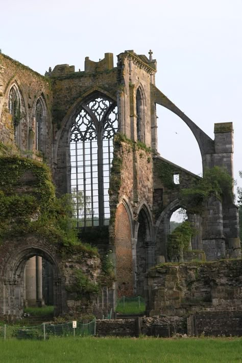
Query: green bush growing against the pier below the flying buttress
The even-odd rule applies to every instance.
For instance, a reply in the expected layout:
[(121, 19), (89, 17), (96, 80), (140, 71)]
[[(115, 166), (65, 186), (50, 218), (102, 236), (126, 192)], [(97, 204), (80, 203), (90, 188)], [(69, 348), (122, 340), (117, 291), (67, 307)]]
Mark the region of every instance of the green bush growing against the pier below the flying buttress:
[(181, 204), (186, 206), (188, 213), (201, 214), (204, 202), (211, 195), (215, 195), (221, 200), (233, 199), (232, 188), (233, 179), (227, 170), (214, 166), (206, 169), (203, 178), (194, 180), (190, 188), (180, 191)]

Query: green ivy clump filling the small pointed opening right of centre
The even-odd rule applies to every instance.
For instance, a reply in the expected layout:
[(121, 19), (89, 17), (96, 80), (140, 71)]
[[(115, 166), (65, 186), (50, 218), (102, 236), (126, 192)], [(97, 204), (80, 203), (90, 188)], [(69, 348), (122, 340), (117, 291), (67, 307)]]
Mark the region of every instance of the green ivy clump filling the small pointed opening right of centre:
[(197, 230), (188, 221), (182, 222), (170, 235), (168, 235), (167, 253), (173, 260), (180, 258), (181, 251), (189, 247), (191, 237), (195, 236)]

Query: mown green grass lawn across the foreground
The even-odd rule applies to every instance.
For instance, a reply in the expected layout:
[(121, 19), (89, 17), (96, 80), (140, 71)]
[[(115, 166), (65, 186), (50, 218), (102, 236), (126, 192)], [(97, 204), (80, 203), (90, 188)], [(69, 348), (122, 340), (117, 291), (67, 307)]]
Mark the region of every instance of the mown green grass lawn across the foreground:
[(242, 338), (66, 337), (0, 341), (3, 363), (242, 362)]

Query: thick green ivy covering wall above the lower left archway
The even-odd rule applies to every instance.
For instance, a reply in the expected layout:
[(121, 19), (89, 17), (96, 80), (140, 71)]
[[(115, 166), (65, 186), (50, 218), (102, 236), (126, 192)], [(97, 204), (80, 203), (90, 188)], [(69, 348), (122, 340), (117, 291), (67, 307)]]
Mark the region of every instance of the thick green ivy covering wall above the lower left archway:
[(26, 157), (0, 156), (0, 237), (28, 233), (60, 244), (63, 254), (97, 256), (78, 240), (69, 194), (56, 198), (50, 169)]

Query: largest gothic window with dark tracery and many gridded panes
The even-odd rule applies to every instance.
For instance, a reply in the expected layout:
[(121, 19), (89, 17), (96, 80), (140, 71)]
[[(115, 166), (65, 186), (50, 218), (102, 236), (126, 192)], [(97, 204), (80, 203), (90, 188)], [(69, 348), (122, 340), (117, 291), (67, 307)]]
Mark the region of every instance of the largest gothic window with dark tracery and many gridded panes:
[(108, 225), (117, 106), (103, 96), (81, 105), (70, 131), (71, 193), (77, 225)]

